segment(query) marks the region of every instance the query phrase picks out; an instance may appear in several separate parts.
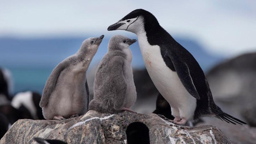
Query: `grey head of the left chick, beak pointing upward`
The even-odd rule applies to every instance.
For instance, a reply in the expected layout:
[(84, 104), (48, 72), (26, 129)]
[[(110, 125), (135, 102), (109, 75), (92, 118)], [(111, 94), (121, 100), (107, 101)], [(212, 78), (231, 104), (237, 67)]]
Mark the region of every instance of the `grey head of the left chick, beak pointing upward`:
[(81, 45), (81, 49), (83, 51), (93, 51), (98, 50), (100, 43), (102, 42), (104, 35), (101, 35), (100, 37), (91, 37), (84, 40), (84, 42)]

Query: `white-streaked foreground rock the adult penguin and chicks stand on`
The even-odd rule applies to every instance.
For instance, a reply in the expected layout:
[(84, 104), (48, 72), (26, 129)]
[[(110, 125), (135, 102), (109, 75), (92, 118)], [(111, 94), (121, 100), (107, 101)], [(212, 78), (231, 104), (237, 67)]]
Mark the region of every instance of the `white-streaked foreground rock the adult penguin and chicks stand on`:
[(125, 130), (130, 123), (141, 122), (149, 129), (150, 143), (231, 143), (219, 128), (178, 126), (156, 114), (100, 114), (88, 111), (83, 116), (62, 121), (18, 120), (1, 139), (1, 144), (35, 143), (34, 137), (63, 140), (67, 143), (127, 143)]

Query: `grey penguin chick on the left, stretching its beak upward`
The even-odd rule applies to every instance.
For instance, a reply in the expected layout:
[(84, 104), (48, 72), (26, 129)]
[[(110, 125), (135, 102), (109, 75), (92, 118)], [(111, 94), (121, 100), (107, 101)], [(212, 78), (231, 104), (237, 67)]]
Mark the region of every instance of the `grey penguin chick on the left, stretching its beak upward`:
[(44, 86), (40, 107), (47, 120), (62, 120), (88, 111), (86, 71), (104, 35), (84, 40), (76, 54), (60, 62)]

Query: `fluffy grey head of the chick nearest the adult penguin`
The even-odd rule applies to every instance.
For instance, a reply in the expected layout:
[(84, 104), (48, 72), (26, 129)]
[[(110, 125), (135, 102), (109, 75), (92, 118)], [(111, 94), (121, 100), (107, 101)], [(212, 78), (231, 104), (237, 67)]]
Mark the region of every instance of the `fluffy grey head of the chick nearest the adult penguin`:
[(115, 35), (110, 38), (108, 42), (108, 49), (124, 51), (125, 49), (128, 49), (129, 46), (135, 43), (136, 41), (136, 39), (130, 39), (122, 35)]

